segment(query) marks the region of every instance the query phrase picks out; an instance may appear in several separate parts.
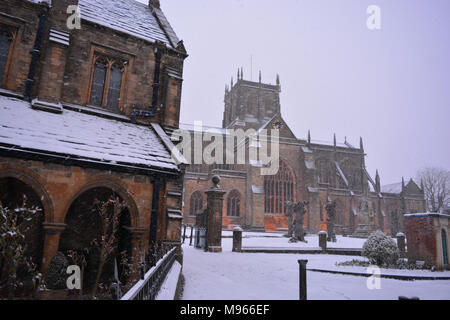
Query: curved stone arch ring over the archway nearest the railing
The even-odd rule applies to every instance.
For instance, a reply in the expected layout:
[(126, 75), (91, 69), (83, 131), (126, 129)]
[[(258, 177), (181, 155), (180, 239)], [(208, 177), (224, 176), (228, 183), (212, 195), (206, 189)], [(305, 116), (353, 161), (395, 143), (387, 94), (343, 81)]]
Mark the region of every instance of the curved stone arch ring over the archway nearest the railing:
[(119, 179), (109, 176), (109, 175), (95, 176), (88, 183), (83, 185), (72, 196), (71, 200), (67, 204), (67, 206), (64, 210), (65, 214), (67, 214), (68, 210), (70, 209), (72, 204), (75, 202), (75, 200), (78, 199), (78, 197), (81, 196), (83, 193), (85, 193), (86, 191), (89, 191), (90, 189), (102, 188), (102, 187), (111, 189), (113, 192), (117, 193), (127, 203), (128, 210), (130, 212), (131, 227), (138, 227), (138, 225), (139, 225), (139, 210), (137, 208), (136, 202), (134, 201), (133, 197), (128, 192), (126, 184), (123, 184)]

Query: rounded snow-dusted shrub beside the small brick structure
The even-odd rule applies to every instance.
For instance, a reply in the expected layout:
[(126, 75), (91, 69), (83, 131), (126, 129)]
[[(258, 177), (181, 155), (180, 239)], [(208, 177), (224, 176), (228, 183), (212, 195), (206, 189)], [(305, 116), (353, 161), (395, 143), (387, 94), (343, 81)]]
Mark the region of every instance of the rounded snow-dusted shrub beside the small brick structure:
[(399, 258), (397, 244), (384, 232), (372, 233), (363, 245), (362, 256), (377, 266), (395, 264)]

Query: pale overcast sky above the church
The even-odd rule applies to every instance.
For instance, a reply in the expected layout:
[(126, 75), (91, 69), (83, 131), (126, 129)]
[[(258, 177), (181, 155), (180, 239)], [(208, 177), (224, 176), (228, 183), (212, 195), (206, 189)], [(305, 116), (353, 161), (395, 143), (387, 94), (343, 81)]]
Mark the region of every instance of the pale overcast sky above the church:
[[(147, 2), (142, 0), (142, 2)], [(366, 26), (381, 8), (381, 30)], [(299, 138), (354, 145), (381, 183), (450, 169), (450, 1), (161, 0), (189, 53), (181, 121), (221, 126), (225, 84), (275, 83)], [(250, 57), (253, 56), (253, 75)]]

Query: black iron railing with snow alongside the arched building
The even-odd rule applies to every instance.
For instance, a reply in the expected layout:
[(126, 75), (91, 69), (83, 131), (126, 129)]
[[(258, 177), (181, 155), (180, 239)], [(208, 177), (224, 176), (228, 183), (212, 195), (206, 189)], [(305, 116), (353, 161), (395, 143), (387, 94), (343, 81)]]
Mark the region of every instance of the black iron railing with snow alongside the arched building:
[(177, 247), (170, 249), (147, 271), (144, 279), (136, 283), (121, 300), (155, 300), (176, 258)]

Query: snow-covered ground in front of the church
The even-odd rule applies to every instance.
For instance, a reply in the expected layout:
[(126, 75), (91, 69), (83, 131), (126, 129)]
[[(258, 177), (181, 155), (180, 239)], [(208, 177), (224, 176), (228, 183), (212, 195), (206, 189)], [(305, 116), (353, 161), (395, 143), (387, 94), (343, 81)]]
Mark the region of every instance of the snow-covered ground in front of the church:
[[(233, 253), (231, 232), (225, 231), (222, 253), (205, 253), (183, 245), (185, 300), (297, 300), (299, 298), (299, 259), (307, 259), (308, 268), (336, 269), (336, 262), (361, 257), (338, 255)], [(273, 236), (273, 237), (271, 237)], [(316, 247), (317, 239), (306, 246)], [(340, 240), (342, 242), (340, 243)], [(361, 247), (364, 240), (338, 238), (336, 246)], [(357, 243), (361, 243), (359, 246)], [(289, 247), (282, 234), (244, 233), (243, 246)], [(354, 267), (345, 270), (354, 271)], [(384, 272), (384, 270), (383, 270)], [(408, 271), (404, 271), (404, 273)], [(423, 272), (423, 271), (414, 271)], [(450, 272), (433, 275), (450, 276)], [(308, 272), (308, 299), (311, 300), (396, 300), (399, 296), (420, 299), (450, 299), (450, 280), (400, 281), (381, 279), (380, 290), (369, 290), (365, 277)]]

